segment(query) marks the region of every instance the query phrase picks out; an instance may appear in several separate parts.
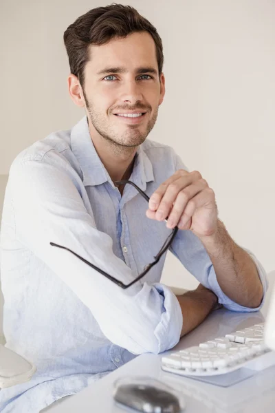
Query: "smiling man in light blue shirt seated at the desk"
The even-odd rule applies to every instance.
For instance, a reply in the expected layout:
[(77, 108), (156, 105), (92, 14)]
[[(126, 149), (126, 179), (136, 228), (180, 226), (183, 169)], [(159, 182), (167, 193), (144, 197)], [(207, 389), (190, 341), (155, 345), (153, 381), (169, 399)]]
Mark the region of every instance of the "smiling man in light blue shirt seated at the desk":
[[(259, 310), (267, 288), (261, 264), (218, 220), (206, 180), (146, 140), (165, 93), (153, 25), (114, 4), (79, 17), (64, 40), (69, 94), (86, 116), (25, 149), (10, 169), (4, 333), (37, 372), (0, 392), (3, 413), (39, 412), (137, 354), (173, 348), (217, 304)], [(172, 231), (170, 251), (200, 283), (179, 297), (159, 283)]]

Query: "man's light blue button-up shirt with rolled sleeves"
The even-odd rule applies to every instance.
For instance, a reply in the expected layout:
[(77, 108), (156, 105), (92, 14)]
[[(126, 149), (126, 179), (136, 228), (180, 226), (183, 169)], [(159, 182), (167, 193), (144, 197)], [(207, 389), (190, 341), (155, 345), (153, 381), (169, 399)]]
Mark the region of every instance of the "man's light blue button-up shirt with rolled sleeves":
[[(146, 140), (130, 179), (150, 196), (177, 169), (186, 167), (172, 148)], [(50, 245), (66, 246), (128, 284), (171, 232), (164, 222), (146, 218), (147, 208), (130, 185), (120, 195), (96, 153), (86, 117), (14, 160), (1, 226), (3, 329), (6, 346), (37, 371), (30, 381), (0, 391), (1, 412), (38, 413), (137, 354), (177, 344), (184, 320), (175, 295), (159, 283), (165, 256), (123, 290)], [(223, 294), (191, 231), (178, 231), (170, 251), (226, 308), (256, 311), (263, 305), (245, 308)], [(265, 271), (250, 255), (265, 293)]]

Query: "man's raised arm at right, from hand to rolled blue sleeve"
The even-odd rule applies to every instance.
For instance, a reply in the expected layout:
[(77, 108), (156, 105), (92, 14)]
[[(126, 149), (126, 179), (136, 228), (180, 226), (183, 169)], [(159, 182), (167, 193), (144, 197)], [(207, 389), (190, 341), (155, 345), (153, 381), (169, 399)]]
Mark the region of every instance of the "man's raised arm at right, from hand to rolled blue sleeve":
[(250, 251), (234, 244), (217, 218), (214, 191), (201, 174), (186, 171), (177, 155), (175, 169), (151, 195), (147, 217), (164, 220), (169, 214), (168, 227), (181, 230), (170, 250), (220, 304), (235, 311), (259, 310), (268, 286), (263, 266)]

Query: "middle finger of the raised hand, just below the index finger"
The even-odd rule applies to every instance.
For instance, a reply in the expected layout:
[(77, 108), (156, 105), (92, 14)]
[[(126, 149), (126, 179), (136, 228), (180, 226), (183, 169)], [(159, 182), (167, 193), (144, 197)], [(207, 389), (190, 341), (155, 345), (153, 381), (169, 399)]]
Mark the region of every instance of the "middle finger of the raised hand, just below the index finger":
[(201, 174), (197, 171), (188, 173), (188, 175), (181, 176), (179, 179), (171, 182), (162, 200), (159, 202), (159, 207), (157, 208), (156, 218), (159, 221), (165, 220), (168, 217), (168, 212), (173, 208), (173, 203), (175, 202), (179, 192), (188, 187), (190, 184), (195, 183), (201, 178)]

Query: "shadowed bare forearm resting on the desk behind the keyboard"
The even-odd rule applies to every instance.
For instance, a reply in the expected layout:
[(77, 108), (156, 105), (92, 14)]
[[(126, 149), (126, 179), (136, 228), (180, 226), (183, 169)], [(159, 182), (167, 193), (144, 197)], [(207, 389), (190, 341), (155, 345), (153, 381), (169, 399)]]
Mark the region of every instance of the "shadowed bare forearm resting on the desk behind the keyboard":
[(183, 316), (181, 337), (199, 326), (217, 304), (217, 296), (201, 285), (197, 290), (177, 295), (177, 300)]

